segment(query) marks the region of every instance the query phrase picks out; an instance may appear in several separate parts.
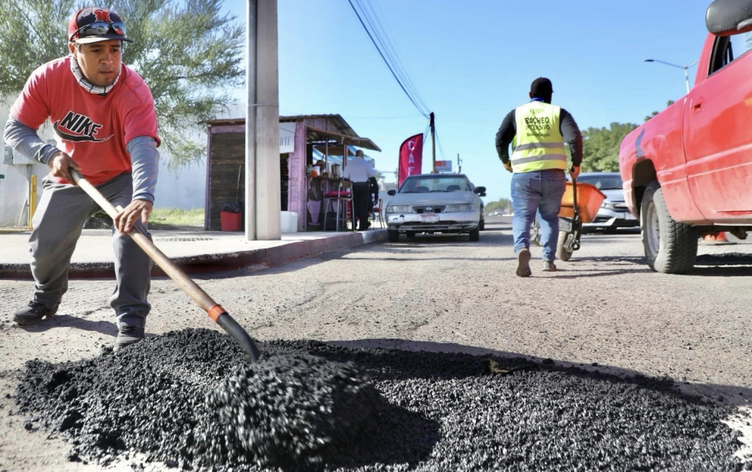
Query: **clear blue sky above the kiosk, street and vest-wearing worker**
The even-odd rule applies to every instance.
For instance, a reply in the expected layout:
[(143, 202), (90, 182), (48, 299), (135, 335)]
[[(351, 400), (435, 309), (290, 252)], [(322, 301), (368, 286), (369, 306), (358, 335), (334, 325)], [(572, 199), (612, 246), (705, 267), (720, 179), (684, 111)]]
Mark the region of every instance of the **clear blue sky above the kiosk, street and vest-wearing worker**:
[[(684, 71), (707, 32), (710, 0), (363, 0), (423, 102), (435, 113), (437, 160), (462, 158), (462, 172), (487, 187), (488, 203), (509, 197), (511, 174), (496, 156), (502, 119), (525, 103), (536, 77), (553, 81), (553, 104), (581, 129), (641, 123), (685, 93)], [(382, 152), (390, 180), (399, 145), (427, 119), (411, 104), (347, 0), (278, 0), (280, 114), (338, 113)], [(224, 8), (244, 21), (246, 2)], [(690, 85), (696, 68), (690, 69)], [(238, 91), (242, 98), (243, 91)], [(443, 153), (442, 153), (443, 152)], [(431, 170), (430, 140), (423, 172)], [(396, 179), (395, 179), (396, 180)]]

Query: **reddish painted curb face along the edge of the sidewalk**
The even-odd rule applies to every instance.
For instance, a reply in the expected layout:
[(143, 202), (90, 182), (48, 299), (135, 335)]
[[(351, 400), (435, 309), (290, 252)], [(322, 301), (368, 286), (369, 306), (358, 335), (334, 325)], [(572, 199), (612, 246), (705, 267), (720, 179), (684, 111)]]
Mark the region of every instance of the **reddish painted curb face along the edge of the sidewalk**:
[[(199, 254), (174, 257), (172, 262), (186, 273), (223, 272), (241, 267), (275, 267), (305, 257), (323, 254), (336, 249), (378, 242), (387, 239), (387, 230), (370, 230), (356, 233), (332, 233), (332, 236), (290, 242), (273, 248), (235, 251), (220, 254)], [(153, 277), (165, 277), (165, 272), (154, 266)], [(0, 263), (0, 278), (32, 280), (29, 264)], [(68, 278), (115, 278), (113, 262), (71, 263)]]

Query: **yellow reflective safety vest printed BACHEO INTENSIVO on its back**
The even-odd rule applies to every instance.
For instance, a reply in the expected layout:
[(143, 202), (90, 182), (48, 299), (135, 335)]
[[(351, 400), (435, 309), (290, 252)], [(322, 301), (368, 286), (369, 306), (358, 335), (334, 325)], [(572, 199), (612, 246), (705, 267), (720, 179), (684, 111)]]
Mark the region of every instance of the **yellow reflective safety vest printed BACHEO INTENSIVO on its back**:
[(559, 131), (561, 107), (531, 101), (514, 110), (517, 134), (512, 141), (512, 172), (566, 170), (566, 148)]

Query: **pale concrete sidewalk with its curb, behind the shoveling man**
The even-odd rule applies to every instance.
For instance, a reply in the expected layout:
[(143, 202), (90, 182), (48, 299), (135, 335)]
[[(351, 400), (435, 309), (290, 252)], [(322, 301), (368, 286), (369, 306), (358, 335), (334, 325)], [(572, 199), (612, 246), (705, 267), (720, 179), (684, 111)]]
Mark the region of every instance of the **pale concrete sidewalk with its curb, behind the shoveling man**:
[[(29, 231), (0, 231), (0, 278), (32, 278)], [(183, 272), (274, 267), (341, 248), (387, 239), (387, 230), (283, 233), (277, 241), (246, 241), (244, 233), (152, 230), (152, 239)], [(83, 230), (71, 259), (70, 278), (114, 278), (111, 230)], [(153, 276), (164, 276), (156, 265)]]

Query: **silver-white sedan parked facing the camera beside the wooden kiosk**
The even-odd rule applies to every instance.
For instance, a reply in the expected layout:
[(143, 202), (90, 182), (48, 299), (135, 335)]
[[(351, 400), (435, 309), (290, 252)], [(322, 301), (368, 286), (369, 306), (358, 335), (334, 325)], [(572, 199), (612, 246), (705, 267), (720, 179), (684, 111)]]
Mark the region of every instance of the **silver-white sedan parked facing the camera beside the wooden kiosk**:
[(484, 228), (485, 187), (475, 187), (464, 174), (431, 173), (409, 176), (399, 190), (387, 192), (392, 199), (385, 213), (387, 239), (399, 234), (468, 233), (470, 241), (481, 238)]

